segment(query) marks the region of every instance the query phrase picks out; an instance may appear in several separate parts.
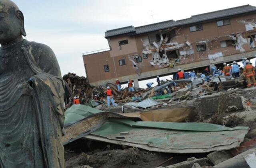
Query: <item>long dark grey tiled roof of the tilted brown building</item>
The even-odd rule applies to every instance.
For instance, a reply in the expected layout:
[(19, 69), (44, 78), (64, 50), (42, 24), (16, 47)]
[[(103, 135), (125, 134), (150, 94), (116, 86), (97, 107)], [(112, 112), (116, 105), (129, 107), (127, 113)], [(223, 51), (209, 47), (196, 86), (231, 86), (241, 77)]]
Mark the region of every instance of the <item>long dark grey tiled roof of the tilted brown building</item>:
[(186, 18), (183, 20), (177, 20), (177, 21), (168, 20), (168, 21), (162, 21), (162, 22), (144, 25), (140, 27), (128, 26), (128, 27), (122, 27), (118, 29), (112, 29), (105, 32), (105, 38), (109, 38), (117, 35), (124, 35), (128, 33), (129, 35), (138, 35), (142, 33), (148, 33), (152, 31), (167, 29), (167, 28), (176, 27), (176, 26), (189, 25), (189, 24), (208, 21), (208, 20), (217, 20), (220, 18), (226, 18), (226, 17), (245, 14), (249, 12), (256, 12), (256, 7), (248, 4), (244, 6), (238, 6), (234, 8), (228, 8), (224, 10), (218, 10), (214, 12), (194, 15), (194, 16), (191, 16), (190, 18)]

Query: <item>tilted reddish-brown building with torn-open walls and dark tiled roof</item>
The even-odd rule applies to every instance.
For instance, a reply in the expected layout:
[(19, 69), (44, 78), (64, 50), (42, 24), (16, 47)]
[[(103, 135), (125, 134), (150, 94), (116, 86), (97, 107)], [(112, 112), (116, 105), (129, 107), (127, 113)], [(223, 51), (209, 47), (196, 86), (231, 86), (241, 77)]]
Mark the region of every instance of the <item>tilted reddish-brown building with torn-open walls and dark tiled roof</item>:
[(88, 82), (101, 85), (194, 70), (256, 55), (256, 7), (245, 5), (183, 20), (105, 33), (109, 49), (83, 54)]

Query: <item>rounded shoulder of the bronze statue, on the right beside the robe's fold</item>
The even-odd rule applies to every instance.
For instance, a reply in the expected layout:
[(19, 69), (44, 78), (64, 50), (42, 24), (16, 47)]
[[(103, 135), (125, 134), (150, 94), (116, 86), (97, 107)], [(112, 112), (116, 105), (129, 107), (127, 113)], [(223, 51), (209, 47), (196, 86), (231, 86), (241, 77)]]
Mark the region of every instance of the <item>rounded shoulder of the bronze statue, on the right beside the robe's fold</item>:
[(31, 53), (38, 66), (46, 73), (61, 77), (60, 66), (52, 49), (41, 43), (30, 42)]

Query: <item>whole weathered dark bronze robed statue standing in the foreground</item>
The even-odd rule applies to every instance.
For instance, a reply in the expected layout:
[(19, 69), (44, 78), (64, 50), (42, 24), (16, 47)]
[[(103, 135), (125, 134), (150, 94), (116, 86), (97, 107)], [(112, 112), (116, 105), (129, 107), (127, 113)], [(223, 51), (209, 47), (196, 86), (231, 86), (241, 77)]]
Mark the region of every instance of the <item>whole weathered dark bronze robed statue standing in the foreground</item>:
[(22, 12), (0, 0), (0, 168), (64, 168), (60, 68), (50, 47), (22, 36)]

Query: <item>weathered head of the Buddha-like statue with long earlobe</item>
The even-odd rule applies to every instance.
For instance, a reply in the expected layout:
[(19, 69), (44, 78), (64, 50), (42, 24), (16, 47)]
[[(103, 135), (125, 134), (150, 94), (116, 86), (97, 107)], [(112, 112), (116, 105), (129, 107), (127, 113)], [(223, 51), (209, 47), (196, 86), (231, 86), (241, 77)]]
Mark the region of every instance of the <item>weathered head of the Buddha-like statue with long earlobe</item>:
[(24, 16), (18, 6), (10, 0), (0, 0), (0, 44), (26, 36)]

